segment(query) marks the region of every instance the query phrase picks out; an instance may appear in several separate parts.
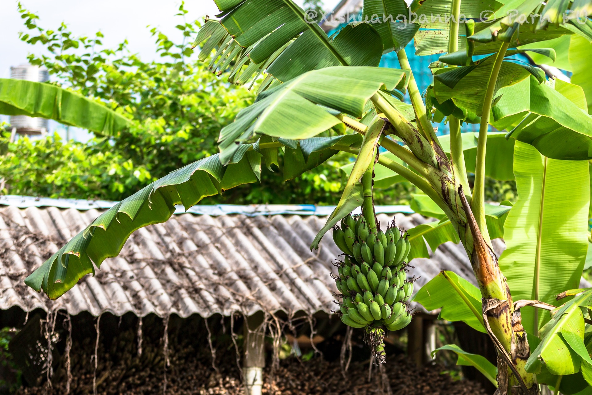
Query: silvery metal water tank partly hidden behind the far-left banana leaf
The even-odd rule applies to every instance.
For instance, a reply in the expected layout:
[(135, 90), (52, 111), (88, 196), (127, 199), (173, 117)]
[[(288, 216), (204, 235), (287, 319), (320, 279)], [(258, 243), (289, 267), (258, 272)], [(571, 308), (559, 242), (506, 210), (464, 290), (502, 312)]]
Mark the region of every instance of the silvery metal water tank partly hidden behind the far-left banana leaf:
[[(46, 69), (38, 66), (24, 64), (10, 68), (10, 78), (26, 79), (27, 81), (46, 82), (49, 81), (49, 73)], [(32, 118), (26, 115), (12, 115), (10, 117), (12, 126), (12, 139), (14, 134), (44, 134), (47, 132), (49, 121), (45, 118)]]

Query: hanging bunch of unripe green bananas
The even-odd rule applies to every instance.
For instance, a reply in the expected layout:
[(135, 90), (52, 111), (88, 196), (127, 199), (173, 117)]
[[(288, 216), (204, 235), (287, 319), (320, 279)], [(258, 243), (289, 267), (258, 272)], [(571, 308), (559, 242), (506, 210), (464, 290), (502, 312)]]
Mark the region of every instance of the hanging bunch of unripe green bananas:
[(341, 320), (352, 327), (398, 330), (411, 322), (404, 302), (413, 293), (405, 271), (411, 244), (398, 227), (372, 233), (363, 216), (350, 215), (333, 228), (333, 240), (345, 253), (339, 262), (337, 289)]

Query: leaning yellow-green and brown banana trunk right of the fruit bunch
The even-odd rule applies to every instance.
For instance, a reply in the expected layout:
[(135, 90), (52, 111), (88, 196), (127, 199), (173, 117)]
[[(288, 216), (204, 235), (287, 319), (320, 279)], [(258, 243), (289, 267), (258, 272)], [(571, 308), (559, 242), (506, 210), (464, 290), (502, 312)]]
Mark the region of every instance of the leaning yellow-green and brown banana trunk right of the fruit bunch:
[[(390, 144), (389, 139), (382, 145), (399, 158), (405, 160), (429, 183), (423, 191), (435, 197), (445, 211), (465, 248), (471, 261), (482, 295), (482, 314), (491, 340), (498, 354), (497, 395), (537, 394), (539, 393), (535, 375), (527, 373), (525, 364), (530, 356), (526, 332), (522, 327), (520, 312), (514, 313), (514, 306), (506, 278), (500, 271), (496, 253), (484, 220), (475, 219), (471, 207), (478, 207), (471, 196), (465, 195), (461, 185), (462, 177), (455, 174), (455, 166), (443, 151), (437, 138), (422, 134), (382, 97), (372, 97), (375, 107), (388, 119), (390, 124), (385, 133), (392, 133), (406, 143), (408, 150), (398, 144)], [(392, 140), (390, 140), (392, 142)], [(418, 185), (419, 187), (419, 185)], [(475, 199), (475, 198), (474, 198)], [(482, 224), (480, 227), (480, 223)]]

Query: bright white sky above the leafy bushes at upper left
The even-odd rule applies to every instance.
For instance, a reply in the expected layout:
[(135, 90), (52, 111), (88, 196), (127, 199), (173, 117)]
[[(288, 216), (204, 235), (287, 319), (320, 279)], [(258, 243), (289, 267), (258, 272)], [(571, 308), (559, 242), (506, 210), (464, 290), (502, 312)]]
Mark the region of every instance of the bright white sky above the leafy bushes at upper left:
[[(303, 0), (295, 0), (298, 5)], [(333, 8), (339, 0), (325, 0), (326, 9)], [(175, 25), (179, 17), (181, 1), (178, 0), (21, 0), (21, 4), (40, 17), (40, 26), (55, 29), (64, 21), (76, 36), (94, 36), (101, 30), (103, 43), (115, 47), (125, 38), (130, 50), (140, 53), (144, 60), (155, 56), (154, 38), (147, 25), (159, 27), (169, 37), (181, 37)], [(186, 0), (188, 21), (217, 14), (213, 0)], [(0, 78), (8, 78), (10, 66), (27, 62), (27, 54), (41, 53), (41, 45), (33, 47), (18, 38), (18, 32), (26, 30), (17, 11), (17, 1), (0, 0)]]

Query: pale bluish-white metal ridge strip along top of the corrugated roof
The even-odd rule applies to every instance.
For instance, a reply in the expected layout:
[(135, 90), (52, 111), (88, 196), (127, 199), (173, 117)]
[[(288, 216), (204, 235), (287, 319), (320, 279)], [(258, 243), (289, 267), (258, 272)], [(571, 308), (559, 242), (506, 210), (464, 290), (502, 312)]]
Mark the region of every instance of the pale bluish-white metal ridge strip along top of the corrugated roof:
[[(118, 201), (89, 200), (71, 198), (46, 198), (21, 195), (0, 195), (0, 205), (13, 205), (18, 208), (27, 207), (57, 207), (76, 208), (76, 210), (91, 210), (111, 208)], [(208, 214), (210, 216), (223, 216), (227, 214), (243, 214), (246, 216), (269, 216), (276, 214), (294, 214), (300, 216), (328, 216), (334, 210), (334, 205), (315, 204), (197, 204), (188, 210), (182, 205), (177, 205), (175, 214), (192, 213)], [(358, 209), (359, 210), (359, 209)], [(413, 214), (411, 207), (403, 204), (377, 205), (377, 214), (404, 213)]]

